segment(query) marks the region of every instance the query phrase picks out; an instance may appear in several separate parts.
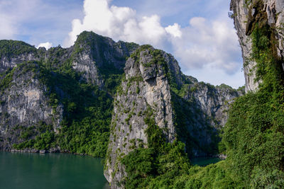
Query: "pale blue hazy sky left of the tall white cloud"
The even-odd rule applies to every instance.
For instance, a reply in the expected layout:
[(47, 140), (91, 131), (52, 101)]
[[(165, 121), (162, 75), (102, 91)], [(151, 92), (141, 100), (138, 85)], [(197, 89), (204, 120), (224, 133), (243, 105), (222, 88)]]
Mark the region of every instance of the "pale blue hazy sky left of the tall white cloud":
[(0, 0), (0, 40), (62, 44), (74, 18), (82, 18), (82, 2)]

